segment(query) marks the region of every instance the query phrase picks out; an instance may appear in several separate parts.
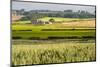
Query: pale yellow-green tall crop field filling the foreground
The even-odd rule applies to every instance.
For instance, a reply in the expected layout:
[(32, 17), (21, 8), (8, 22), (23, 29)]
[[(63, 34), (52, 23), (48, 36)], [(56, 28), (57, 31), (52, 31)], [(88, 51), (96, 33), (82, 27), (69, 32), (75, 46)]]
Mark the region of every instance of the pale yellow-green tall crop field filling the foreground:
[(12, 45), (12, 64), (95, 61), (95, 43)]

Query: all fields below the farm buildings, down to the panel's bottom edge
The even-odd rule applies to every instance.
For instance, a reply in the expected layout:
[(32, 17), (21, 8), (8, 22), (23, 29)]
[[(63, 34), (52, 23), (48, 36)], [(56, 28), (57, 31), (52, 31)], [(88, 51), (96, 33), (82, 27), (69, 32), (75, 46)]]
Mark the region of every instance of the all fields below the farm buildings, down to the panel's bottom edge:
[(95, 61), (95, 20), (73, 20), (43, 25), (12, 23), (12, 64)]

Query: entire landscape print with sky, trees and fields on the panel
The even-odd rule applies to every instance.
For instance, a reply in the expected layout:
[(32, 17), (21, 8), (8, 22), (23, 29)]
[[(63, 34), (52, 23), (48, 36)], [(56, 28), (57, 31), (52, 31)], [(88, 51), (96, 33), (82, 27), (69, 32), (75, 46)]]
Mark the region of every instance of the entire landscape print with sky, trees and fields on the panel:
[(96, 61), (95, 6), (22, 1), (12, 6), (12, 67)]

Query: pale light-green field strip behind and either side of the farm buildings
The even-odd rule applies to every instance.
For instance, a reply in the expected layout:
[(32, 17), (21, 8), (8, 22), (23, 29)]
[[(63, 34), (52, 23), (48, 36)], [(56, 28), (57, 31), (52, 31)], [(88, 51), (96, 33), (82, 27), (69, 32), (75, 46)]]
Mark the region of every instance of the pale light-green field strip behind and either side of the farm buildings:
[[(50, 19), (54, 19), (55, 22), (61, 22), (61, 23), (62, 22), (94, 20), (94, 18), (61, 18), (61, 17), (43, 17), (43, 18), (40, 18), (38, 20), (49, 21)], [(13, 23), (25, 24), (25, 23), (31, 23), (31, 21), (30, 20), (27, 20), (27, 21), (16, 21), (16, 22), (13, 22)]]

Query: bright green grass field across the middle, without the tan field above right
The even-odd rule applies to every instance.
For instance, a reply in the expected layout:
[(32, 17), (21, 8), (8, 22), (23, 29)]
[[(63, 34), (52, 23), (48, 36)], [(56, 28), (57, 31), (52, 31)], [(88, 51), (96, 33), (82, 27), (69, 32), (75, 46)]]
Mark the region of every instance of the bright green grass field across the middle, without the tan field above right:
[[(12, 25), (13, 37), (31, 38), (31, 37), (95, 37), (95, 28), (60, 28), (59, 25)], [(43, 29), (60, 29), (60, 31), (42, 31)], [(61, 30), (61, 29), (66, 29)], [(74, 29), (74, 30), (73, 30)], [(29, 30), (29, 31), (28, 31)]]

